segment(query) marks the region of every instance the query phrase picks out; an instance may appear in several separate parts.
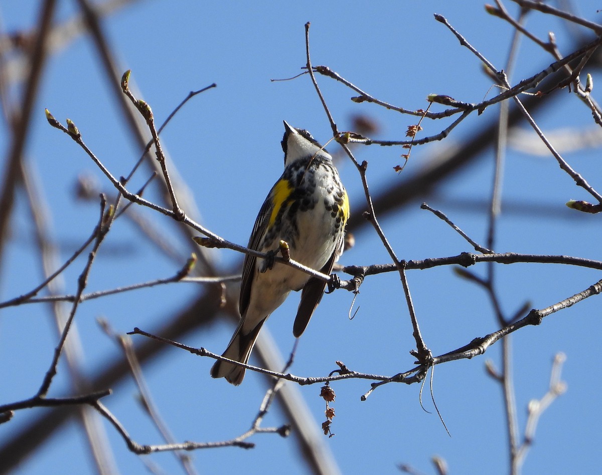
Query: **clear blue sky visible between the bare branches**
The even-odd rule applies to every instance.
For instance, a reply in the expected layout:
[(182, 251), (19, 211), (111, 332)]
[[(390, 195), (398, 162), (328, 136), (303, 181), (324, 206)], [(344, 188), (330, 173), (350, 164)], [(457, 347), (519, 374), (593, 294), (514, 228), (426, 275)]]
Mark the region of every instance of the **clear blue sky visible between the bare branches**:
[[(216, 2), (217, 3), (217, 2)], [(507, 7), (514, 12), (515, 8)], [(579, 2), (579, 13), (602, 22), (597, 2)], [(9, 2), (0, 10), (4, 31), (31, 28), (37, 2)], [(58, 17), (67, 19), (73, 6), (60, 2)], [(430, 93), (447, 94), (465, 102), (479, 102), (497, 92), (482, 74), (479, 61), (433, 13), (447, 17), (495, 66), (503, 68), (512, 29), (485, 13), (481, 2), (430, 1), (371, 4), (364, 2), (135, 2), (103, 23), (120, 69), (132, 70), (132, 81), (149, 102), (158, 121), (166, 117), (191, 90), (215, 82), (217, 88), (195, 97), (163, 133), (163, 144), (172, 167), (184, 177), (200, 210), (202, 224), (229, 241), (246, 244), (265, 194), (282, 172), (280, 140), (282, 120), (311, 131), (318, 141), (330, 138), (330, 127), (308, 76), (290, 78), (305, 65), (304, 26), (311, 21), (311, 53), (314, 64), (324, 64), (349, 81), (386, 102), (408, 109), (426, 108)], [(545, 38), (554, 31), (563, 54), (571, 52), (572, 29), (559, 20), (532, 13), (530, 31)], [(584, 30), (585, 31), (585, 30)], [(533, 75), (552, 58), (528, 40), (521, 43), (514, 81)], [(594, 75), (597, 70), (588, 70)], [(366, 114), (380, 125), (379, 138), (402, 139), (415, 118), (386, 111), (367, 103), (355, 104), (356, 94), (326, 78), (318, 77), (330, 110), (341, 130), (351, 127), (354, 114)], [(596, 93), (594, 88), (594, 95)], [(535, 118), (547, 133), (569, 129), (572, 133), (595, 130), (591, 114), (574, 96), (560, 91), (553, 107)], [(15, 96), (18, 97), (18, 96)], [(433, 106), (434, 107), (434, 106)], [(46, 123), (48, 108), (64, 123), (75, 121), (84, 141), (114, 174), (126, 174), (140, 155), (129, 138), (119, 109), (110, 94), (96, 50), (87, 37), (78, 37), (57, 51), (46, 64), (40, 96), (34, 108), (33, 127), (26, 147), (28, 161), (37, 170), (52, 219), (52, 234), (66, 259), (92, 231), (98, 218), (96, 204), (73, 198), (78, 176), (93, 177), (111, 191), (95, 165), (64, 134)], [(435, 110), (442, 110), (440, 109)], [(472, 114), (442, 142), (415, 147), (401, 175), (400, 148), (361, 147), (359, 161), (368, 161), (368, 180), (374, 194), (391, 183), (405, 180), (429, 161), (467, 141), (476, 130), (496, 118), (497, 109)], [(423, 136), (447, 127), (448, 120), (424, 121)], [(0, 134), (7, 150), (9, 135)], [(329, 150), (336, 151), (330, 144)], [(337, 151), (338, 152), (338, 151)], [(2, 155), (5, 156), (5, 153)], [(564, 158), (597, 188), (601, 176), (600, 149), (563, 153)], [(479, 161), (456, 174), (428, 198), (465, 232), (485, 244), (487, 215), (482, 205), (489, 199), (494, 155), (483, 153)], [(350, 195), (352, 213), (361, 207), (363, 192), (355, 167), (338, 162)], [(406, 178), (406, 176), (407, 178)], [(146, 180), (140, 173), (136, 189)], [(518, 211), (505, 211), (498, 223), (497, 252), (565, 254), (600, 260), (597, 216), (572, 212), (569, 199), (590, 197), (574, 186), (551, 156), (507, 150), (503, 184), (504, 203)], [(149, 197), (157, 199), (151, 190)], [(464, 203), (464, 204), (463, 204)], [(544, 211), (542, 211), (544, 210)], [(378, 210), (377, 210), (378, 211)], [(167, 218), (149, 210), (141, 214), (152, 221), (162, 237), (183, 255), (187, 243)], [(12, 298), (40, 281), (40, 265), (33, 244), (33, 226), (26, 200), (19, 195), (13, 217), (12, 239), (4, 252), (0, 299)], [(458, 234), (431, 213), (420, 210), (420, 200), (403, 212), (381, 221), (401, 259), (452, 256), (471, 251)], [(103, 244), (88, 281), (89, 290), (102, 290), (152, 278), (168, 277), (181, 263), (161, 256), (125, 219), (116, 223)], [(214, 253), (217, 265), (232, 269), (240, 256), (231, 251)], [(356, 247), (344, 254), (344, 265), (388, 263), (390, 259), (371, 228), (356, 233)], [(84, 266), (80, 259), (64, 274), (67, 292), (73, 292)], [(473, 269), (484, 275), (485, 266)], [(496, 268), (497, 290), (506, 314), (525, 301), (544, 308), (580, 292), (600, 278), (591, 269), (520, 264)], [(421, 330), (433, 354), (465, 345), (474, 337), (497, 329), (491, 304), (482, 290), (461, 280), (451, 268), (408, 272), (409, 284)], [(93, 374), (120, 350), (99, 329), (96, 317), (105, 317), (116, 331), (134, 326), (151, 330), (184, 308), (202, 288), (196, 284), (172, 284), (84, 302), (76, 323), (82, 342), (82, 368)], [(279, 348), (288, 354), (293, 345), (292, 315), (298, 302), (291, 295), (268, 322)], [(535, 444), (527, 456), (524, 473), (591, 473), (598, 467), (600, 439), (600, 364), (589, 349), (599, 334), (599, 298), (590, 298), (544, 319), (512, 337), (514, 386), (521, 431), (530, 399), (547, 391), (551, 360), (556, 352), (567, 355), (562, 379), (568, 391), (544, 413)], [(300, 340), (291, 372), (318, 376), (343, 361), (360, 372), (393, 375), (413, 366), (414, 348), (402, 287), (397, 274), (367, 278), (356, 305), (359, 312), (349, 321), (352, 294), (338, 291), (326, 296)], [(184, 343), (221, 353), (232, 325), (217, 323), (210, 331), (188, 334)], [(135, 336), (139, 342), (142, 337)], [(24, 399), (35, 393), (46, 371), (56, 331), (49, 308), (24, 305), (0, 313), (0, 403)], [(448, 437), (433, 412), (428, 391), (420, 408), (418, 385), (389, 384), (374, 391), (365, 402), (360, 396), (369, 382), (355, 380), (333, 384), (337, 393), (336, 436), (324, 443), (342, 473), (396, 473), (396, 465), (410, 464), (432, 473), (433, 455), (447, 460), (453, 473), (507, 473), (507, 448), (501, 391), (485, 375), (485, 361), (500, 366), (501, 345), (485, 357), (436, 367), (433, 381), (436, 402), (452, 437)], [(585, 361), (584, 361), (585, 359)], [(593, 360), (593, 362), (592, 362)], [(176, 440), (217, 441), (246, 431), (264, 394), (264, 382), (247, 373), (241, 387), (209, 378), (212, 360), (168, 349), (144, 367), (144, 375), (164, 419)], [(69, 387), (66, 367), (60, 366), (52, 396)], [(143, 444), (160, 443), (160, 437), (135, 402), (136, 389), (128, 381), (113, 388), (105, 405), (120, 418), (132, 437)], [(318, 385), (300, 388), (316, 424), (324, 418)], [(0, 425), (0, 443), (46, 409), (19, 411)], [(273, 408), (264, 425), (279, 426), (286, 420)], [(145, 473), (138, 457), (128, 452), (114, 429), (105, 426), (121, 473)], [(306, 473), (294, 448), (294, 440), (276, 435), (253, 437), (255, 449), (213, 449), (191, 453), (200, 473)], [(179, 473), (170, 454), (153, 455), (165, 473)], [(487, 467), (487, 468), (485, 468)], [(69, 423), (16, 473), (93, 473), (79, 426)]]

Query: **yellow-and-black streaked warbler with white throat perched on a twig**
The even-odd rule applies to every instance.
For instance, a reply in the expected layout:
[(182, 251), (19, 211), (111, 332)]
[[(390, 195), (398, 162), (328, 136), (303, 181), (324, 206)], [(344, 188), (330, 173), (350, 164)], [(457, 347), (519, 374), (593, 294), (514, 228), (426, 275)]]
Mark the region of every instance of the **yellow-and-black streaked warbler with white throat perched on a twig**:
[[(284, 173), (265, 198), (247, 247), (275, 256), (285, 241), (291, 259), (330, 274), (343, 252), (347, 192), (324, 147), (307, 130), (286, 121), (284, 128)], [(261, 326), (291, 290), (302, 290), (293, 324), (293, 335), (300, 337), (325, 287), (325, 281), (291, 266), (246, 254), (238, 302), (241, 320), (222, 356), (247, 363)], [(244, 367), (219, 360), (211, 368), (213, 378), (235, 385), (243, 381), (244, 372)]]

